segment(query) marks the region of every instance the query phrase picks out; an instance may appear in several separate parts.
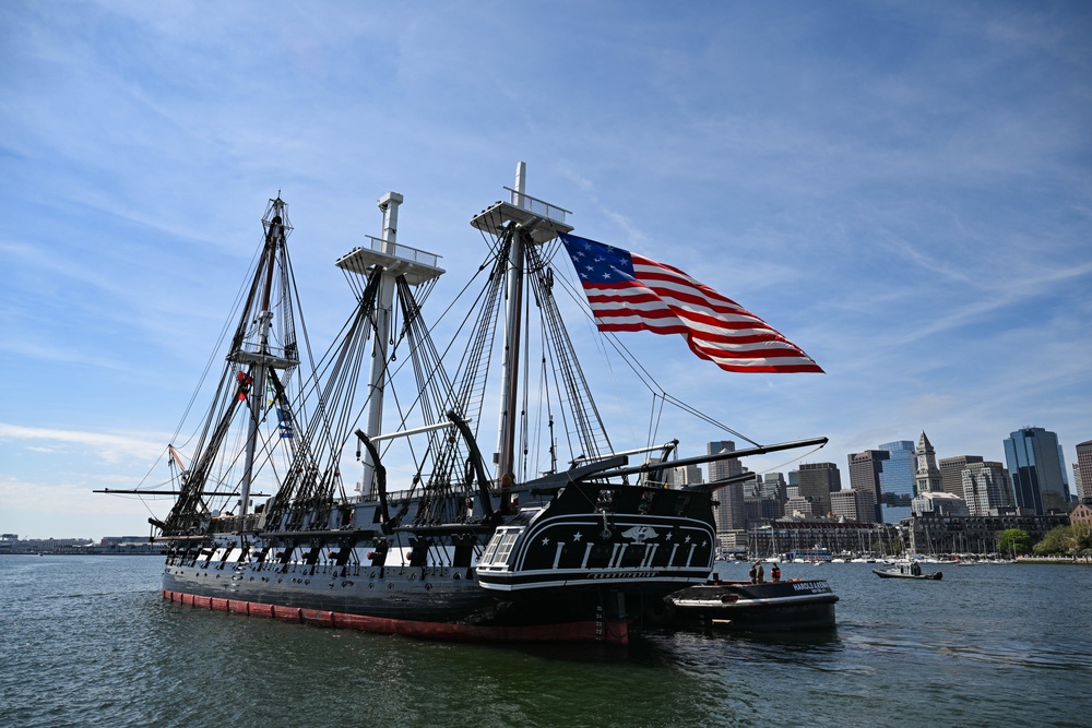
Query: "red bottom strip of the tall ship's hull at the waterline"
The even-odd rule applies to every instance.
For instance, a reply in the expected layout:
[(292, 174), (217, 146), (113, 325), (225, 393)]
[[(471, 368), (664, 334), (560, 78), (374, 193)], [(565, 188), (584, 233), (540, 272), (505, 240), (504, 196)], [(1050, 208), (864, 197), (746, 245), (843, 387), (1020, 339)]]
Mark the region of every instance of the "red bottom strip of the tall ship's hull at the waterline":
[(265, 617), (299, 622), (313, 626), (360, 630), (379, 634), (402, 634), (429, 640), (465, 640), (477, 642), (604, 642), (624, 645), (629, 642), (625, 620), (584, 621), (565, 624), (529, 624), (520, 626), (484, 626), (447, 622), (414, 622), (382, 617), (365, 617), (322, 609), (278, 607), (259, 601), (218, 599), (163, 589), (163, 598), (197, 609), (212, 609), (248, 617)]

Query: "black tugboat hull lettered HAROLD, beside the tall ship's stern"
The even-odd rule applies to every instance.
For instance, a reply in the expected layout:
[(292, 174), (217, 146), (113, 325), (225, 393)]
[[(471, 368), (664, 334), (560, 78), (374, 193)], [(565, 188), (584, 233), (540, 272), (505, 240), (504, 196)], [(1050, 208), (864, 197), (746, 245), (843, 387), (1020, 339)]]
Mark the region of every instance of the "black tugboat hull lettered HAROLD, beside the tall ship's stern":
[(714, 631), (831, 630), (835, 602), (838, 596), (821, 580), (708, 584), (670, 595), (664, 624)]

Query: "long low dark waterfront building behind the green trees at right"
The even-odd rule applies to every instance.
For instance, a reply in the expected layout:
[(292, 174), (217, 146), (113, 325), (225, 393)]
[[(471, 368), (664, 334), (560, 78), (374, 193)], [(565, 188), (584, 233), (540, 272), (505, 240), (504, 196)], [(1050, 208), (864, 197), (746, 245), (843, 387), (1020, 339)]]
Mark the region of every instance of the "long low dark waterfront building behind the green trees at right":
[(1061, 514), (968, 517), (926, 514), (914, 516), (907, 525), (910, 549), (915, 553), (996, 553), (997, 539), (1009, 528), (1025, 532), (1034, 544), (1052, 528), (1069, 525), (1069, 517)]

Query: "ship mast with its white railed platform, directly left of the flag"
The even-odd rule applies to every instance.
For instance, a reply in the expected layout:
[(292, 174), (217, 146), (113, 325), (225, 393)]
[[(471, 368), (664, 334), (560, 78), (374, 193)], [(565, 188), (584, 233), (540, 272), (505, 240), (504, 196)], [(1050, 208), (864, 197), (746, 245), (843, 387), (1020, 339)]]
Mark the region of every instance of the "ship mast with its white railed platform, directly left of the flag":
[(553, 240), (559, 232), (569, 232), (566, 225), (569, 211), (536, 200), (526, 194), (527, 165), (515, 166), (515, 188), (511, 202), (498, 202), (478, 213), (471, 225), (492, 234), (498, 239), (510, 238), (507, 291), (505, 307), (505, 349), (501, 360), (500, 432), (494, 455), (496, 473), (500, 478), (515, 470), (515, 431), (519, 426), (517, 389), (520, 381), (520, 321), (523, 315), (523, 277), (526, 267), (527, 246)]

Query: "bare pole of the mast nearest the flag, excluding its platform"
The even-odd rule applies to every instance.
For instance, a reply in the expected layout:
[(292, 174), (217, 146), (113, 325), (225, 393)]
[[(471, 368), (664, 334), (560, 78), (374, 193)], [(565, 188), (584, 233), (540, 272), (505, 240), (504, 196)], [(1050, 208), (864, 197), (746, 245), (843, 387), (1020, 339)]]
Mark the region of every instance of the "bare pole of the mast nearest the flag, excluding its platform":
[[(523, 206), (527, 191), (527, 164), (515, 165), (515, 188), (512, 203)], [(508, 253), (508, 297), (505, 307), (505, 349), (501, 359), (500, 390), (500, 434), (497, 442), (497, 469), (499, 477), (515, 470), (515, 415), (518, 387), (520, 383), (520, 322), (523, 312), (523, 265), (526, 235), (522, 226), (513, 223), (509, 235), (512, 237)]]

